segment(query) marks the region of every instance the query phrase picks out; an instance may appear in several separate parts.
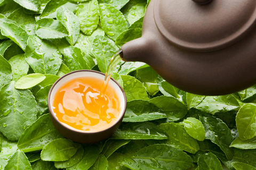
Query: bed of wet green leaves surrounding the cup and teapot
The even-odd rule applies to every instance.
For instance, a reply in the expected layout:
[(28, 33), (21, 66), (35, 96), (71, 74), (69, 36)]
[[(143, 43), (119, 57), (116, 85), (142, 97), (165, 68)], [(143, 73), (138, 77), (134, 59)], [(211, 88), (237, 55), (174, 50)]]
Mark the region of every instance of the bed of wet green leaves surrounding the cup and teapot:
[(256, 86), (225, 96), (173, 87), (141, 62), (113, 78), (127, 110), (109, 139), (65, 139), (47, 108), (52, 84), (75, 70), (106, 72), (141, 37), (146, 0), (0, 0), (0, 169), (255, 169)]

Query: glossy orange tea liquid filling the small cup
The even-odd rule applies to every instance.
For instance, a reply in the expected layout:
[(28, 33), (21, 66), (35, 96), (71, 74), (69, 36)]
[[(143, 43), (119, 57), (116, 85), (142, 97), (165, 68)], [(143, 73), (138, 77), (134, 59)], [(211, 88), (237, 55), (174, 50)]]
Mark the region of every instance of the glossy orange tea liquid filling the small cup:
[(84, 131), (101, 131), (119, 117), (120, 101), (113, 87), (100, 95), (102, 80), (93, 77), (72, 79), (63, 84), (53, 99), (53, 112), (60, 122)]

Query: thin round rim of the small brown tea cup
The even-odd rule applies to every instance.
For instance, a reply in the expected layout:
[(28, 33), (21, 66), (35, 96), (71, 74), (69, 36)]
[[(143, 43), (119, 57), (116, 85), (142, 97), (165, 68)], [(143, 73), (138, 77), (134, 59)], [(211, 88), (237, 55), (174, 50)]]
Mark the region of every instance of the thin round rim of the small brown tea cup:
[[(60, 121), (58, 120), (58, 118), (54, 115), (54, 113), (52, 112), (52, 109), (51, 109), (50, 98), (51, 98), (51, 95), (52, 95), (52, 90), (53, 90), (53, 88), (55, 87), (55, 85), (56, 85), (61, 79), (67, 77), (67, 76), (70, 75), (70, 74), (74, 74), (74, 73), (76, 73), (76, 72), (94, 72), (94, 73), (99, 73), (99, 74), (101, 74), (101, 75), (105, 75), (104, 73), (99, 72), (99, 71), (95, 71), (95, 70), (76, 70), (76, 71), (73, 71), (73, 72), (69, 72), (69, 73), (67, 73), (67, 74), (65, 74), (65, 75), (62, 75), (62, 77), (60, 77), (57, 81), (55, 81), (55, 82), (52, 84), (52, 87), (51, 87), (51, 89), (50, 89), (50, 91), (49, 91), (49, 93), (48, 93), (48, 96), (47, 96), (47, 105), (48, 105), (49, 113), (52, 115), (51, 117), (53, 117), (55, 121), (59, 122), (59, 123), (61, 124), (61, 126), (65, 126), (65, 125), (63, 125), (62, 122), (60, 122)], [(125, 114), (126, 105), (127, 105), (126, 95), (125, 95), (124, 89), (121, 87), (121, 85), (120, 85), (115, 79), (113, 79), (112, 77), (110, 77), (110, 79), (111, 79), (112, 81), (114, 81), (114, 82), (117, 84), (117, 86), (121, 89), (122, 94), (123, 94), (123, 97), (124, 97), (124, 110), (123, 110), (123, 113), (122, 113), (121, 115), (119, 115), (118, 120), (117, 120), (113, 125), (109, 126), (107, 129), (103, 129), (103, 130), (101, 130), (101, 131), (94, 131), (94, 132), (84, 131), (84, 132), (83, 132), (82, 130), (77, 130), (77, 131), (76, 131), (76, 130), (73, 130), (73, 129), (69, 128), (68, 126), (65, 126), (65, 128), (69, 129), (70, 131), (74, 131), (74, 132), (78, 132), (78, 133), (92, 134), (92, 133), (99, 133), (99, 132), (108, 131), (108, 130), (110, 130), (111, 128), (113, 128), (113, 126), (115, 126), (119, 121), (122, 121), (122, 120), (123, 120), (123, 116), (124, 116), (124, 114)], [(74, 128), (74, 129), (75, 129), (75, 128)]]

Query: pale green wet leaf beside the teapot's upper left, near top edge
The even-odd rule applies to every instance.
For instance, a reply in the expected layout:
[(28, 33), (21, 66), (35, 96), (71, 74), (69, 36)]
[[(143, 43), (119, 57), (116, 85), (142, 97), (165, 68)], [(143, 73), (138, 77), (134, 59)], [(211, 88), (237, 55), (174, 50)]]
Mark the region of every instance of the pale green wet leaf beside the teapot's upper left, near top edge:
[(131, 10), (127, 14), (127, 20), (129, 21), (130, 25), (144, 16), (145, 11), (146, 4), (137, 4), (132, 6)]

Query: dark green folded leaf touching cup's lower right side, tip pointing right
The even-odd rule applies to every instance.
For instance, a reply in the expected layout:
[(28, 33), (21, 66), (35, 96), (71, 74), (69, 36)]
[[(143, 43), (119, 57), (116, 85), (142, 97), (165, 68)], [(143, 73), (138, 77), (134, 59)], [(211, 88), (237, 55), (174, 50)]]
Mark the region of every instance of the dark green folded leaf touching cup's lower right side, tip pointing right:
[(127, 102), (123, 122), (145, 122), (166, 118), (166, 114), (149, 103), (148, 100), (131, 100)]

